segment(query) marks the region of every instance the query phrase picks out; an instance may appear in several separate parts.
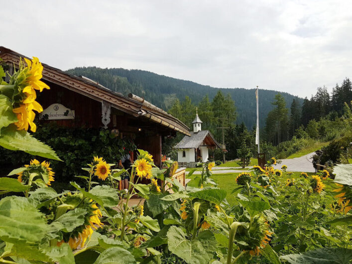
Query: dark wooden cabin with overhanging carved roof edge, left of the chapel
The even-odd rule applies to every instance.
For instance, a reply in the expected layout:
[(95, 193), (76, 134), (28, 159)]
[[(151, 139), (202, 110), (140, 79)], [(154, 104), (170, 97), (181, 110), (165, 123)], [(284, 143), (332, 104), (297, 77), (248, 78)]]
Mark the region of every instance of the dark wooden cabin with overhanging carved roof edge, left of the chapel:
[[(20, 58), (28, 58), (0, 47), (0, 58), (13, 72)], [(129, 136), (137, 148), (147, 150), (161, 166), (161, 144), (176, 132), (190, 135), (189, 128), (172, 115), (144, 99), (116, 93), (83, 76), (74, 76), (42, 63), (42, 81), (49, 85), (38, 95), (44, 111), (39, 122), (63, 127), (105, 128), (118, 136)]]

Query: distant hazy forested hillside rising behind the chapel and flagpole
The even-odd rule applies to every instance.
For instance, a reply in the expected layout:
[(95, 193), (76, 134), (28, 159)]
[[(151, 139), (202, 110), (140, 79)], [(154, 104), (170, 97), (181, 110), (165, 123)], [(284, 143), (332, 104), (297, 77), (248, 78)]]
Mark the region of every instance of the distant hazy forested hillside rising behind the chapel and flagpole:
[[(83, 75), (95, 80), (103, 86), (126, 95), (133, 93), (144, 97), (152, 104), (169, 110), (178, 98), (181, 102), (185, 96), (189, 96), (193, 104), (198, 104), (204, 96), (208, 95), (209, 100), (213, 100), (219, 90), (224, 95), (230, 94), (235, 101), (237, 112), (236, 122), (244, 122), (248, 129), (251, 129), (256, 122), (255, 94), (254, 89), (244, 88), (214, 88), (201, 85), (191, 81), (175, 79), (163, 75), (158, 75), (142, 70), (126, 70), (121, 68), (102, 69), (98, 67), (77, 67), (67, 71), (77, 76)], [(260, 124), (264, 126), (267, 114), (274, 108), (271, 104), (277, 91), (259, 91), (259, 112)], [(303, 99), (288, 93), (280, 94), (291, 105), (293, 99), (301, 105)]]

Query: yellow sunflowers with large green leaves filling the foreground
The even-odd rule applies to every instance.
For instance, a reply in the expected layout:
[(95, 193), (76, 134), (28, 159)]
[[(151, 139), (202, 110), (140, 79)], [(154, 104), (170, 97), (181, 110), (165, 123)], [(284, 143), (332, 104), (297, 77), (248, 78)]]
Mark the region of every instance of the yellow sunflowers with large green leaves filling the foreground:
[[(42, 110), (36, 91), (49, 89), (41, 71), (37, 58), (25, 60), (0, 84), (0, 145), (42, 157), (0, 178), (8, 195), (0, 200), (1, 263), (161, 263), (169, 255), (190, 264), (352, 260), (351, 164), (293, 178), (286, 166), (273, 169), (273, 157), (234, 175), (230, 205), (212, 178), (213, 163), (200, 164), (199, 175), (190, 171), (185, 188), (172, 178), (177, 162), (159, 169), (139, 149), (128, 170), (92, 156), (77, 176), (84, 184), (72, 181), (74, 191), (57, 193), (50, 185), (60, 175), (49, 159), (59, 157), (27, 132), (36, 131)], [(128, 190), (118, 190), (125, 176)]]

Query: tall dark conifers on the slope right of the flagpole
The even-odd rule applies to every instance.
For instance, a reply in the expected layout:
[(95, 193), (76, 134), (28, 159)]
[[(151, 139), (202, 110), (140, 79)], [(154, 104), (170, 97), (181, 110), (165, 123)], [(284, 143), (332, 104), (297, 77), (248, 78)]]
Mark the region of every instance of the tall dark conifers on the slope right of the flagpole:
[(274, 145), (290, 140), (304, 129), (312, 138), (318, 135), (314, 132), (321, 119), (335, 120), (344, 114), (345, 102), (352, 100), (352, 83), (346, 78), (341, 86), (338, 84), (330, 95), (326, 87), (318, 87), (311, 99), (303, 100), (302, 106), (293, 99), (290, 109), (280, 94), (277, 94), (272, 104), (275, 108), (266, 118), (265, 139)]

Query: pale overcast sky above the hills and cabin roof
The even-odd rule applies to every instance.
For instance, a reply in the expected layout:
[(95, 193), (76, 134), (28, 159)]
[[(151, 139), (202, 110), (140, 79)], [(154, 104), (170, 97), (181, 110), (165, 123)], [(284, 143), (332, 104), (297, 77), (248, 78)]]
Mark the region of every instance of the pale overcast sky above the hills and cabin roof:
[(352, 78), (351, 0), (0, 3), (0, 45), (62, 70), (142, 69), (301, 97)]

